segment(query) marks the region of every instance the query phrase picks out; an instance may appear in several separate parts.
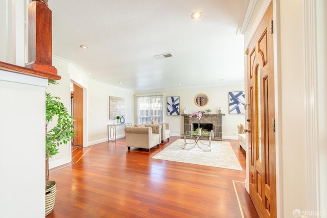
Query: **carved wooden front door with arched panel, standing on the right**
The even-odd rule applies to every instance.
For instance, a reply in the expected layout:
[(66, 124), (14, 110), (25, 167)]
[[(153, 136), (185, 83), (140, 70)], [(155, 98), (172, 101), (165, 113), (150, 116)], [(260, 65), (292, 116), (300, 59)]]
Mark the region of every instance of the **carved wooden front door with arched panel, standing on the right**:
[(276, 217), (272, 4), (247, 49), (250, 197), (260, 217)]

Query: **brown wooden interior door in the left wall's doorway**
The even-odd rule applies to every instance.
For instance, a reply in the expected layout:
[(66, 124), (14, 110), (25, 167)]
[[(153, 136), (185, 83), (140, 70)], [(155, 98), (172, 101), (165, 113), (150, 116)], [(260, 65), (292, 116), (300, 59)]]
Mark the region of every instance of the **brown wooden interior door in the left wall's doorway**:
[(75, 137), (74, 146), (83, 146), (83, 88), (74, 83), (73, 116)]

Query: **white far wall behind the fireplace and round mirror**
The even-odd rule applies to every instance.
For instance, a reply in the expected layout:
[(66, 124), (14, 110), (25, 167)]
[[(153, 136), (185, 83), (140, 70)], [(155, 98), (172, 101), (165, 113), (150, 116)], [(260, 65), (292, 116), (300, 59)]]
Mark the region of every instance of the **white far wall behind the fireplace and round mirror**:
[[(153, 93), (165, 93), (164, 95), (164, 121), (170, 123), (171, 135), (180, 136), (184, 131), (183, 116), (167, 115), (167, 97), (179, 96), (180, 97), (180, 114), (183, 114), (184, 107), (187, 107), (190, 113), (194, 111), (211, 109), (212, 114), (217, 113), (218, 108), (221, 108), (225, 116), (222, 117), (222, 136), (228, 139), (238, 139), (238, 124), (245, 123), (244, 114), (228, 114), (228, 92), (230, 91), (244, 91), (244, 85), (229, 85), (229, 86), (215, 86), (215, 87), (195, 87), (187, 89), (173, 89), (173, 90), (156, 90)], [(148, 92), (135, 92), (137, 94), (146, 94)], [(208, 95), (209, 103), (205, 107), (198, 107), (194, 103), (194, 98), (199, 93)], [(134, 98), (134, 122), (137, 123), (137, 98)]]

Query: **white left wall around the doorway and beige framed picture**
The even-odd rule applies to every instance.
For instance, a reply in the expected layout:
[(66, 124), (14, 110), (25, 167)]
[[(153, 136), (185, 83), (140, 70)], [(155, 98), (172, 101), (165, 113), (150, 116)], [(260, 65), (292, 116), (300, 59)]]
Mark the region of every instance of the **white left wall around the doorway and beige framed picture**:
[[(109, 119), (109, 96), (124, 99), (125, 122), (133, 123), (133, 91), (109, 86), (102, 82), (90, 80), (73, 62), (59, 57), (53, 57), (53, 65), (58, 70), (61, 80), (58, 85), (49, 86), (47, 90), (59, 96), (64, 105), (70, 108), (70, 81), (83, 87), (84, 117), (83, 146), (91, 146), (108, 140), (107, 125), (115, 120)], [(69, 110), (70, 111), (70, 110)], [(122, 135), (118, 135), (118, 138)], [(50, 159), (50, 168), (71, 161), (71, 144), (60, 146), (59, 153)], [(50, 175), (51, 176), (51, 175)]]

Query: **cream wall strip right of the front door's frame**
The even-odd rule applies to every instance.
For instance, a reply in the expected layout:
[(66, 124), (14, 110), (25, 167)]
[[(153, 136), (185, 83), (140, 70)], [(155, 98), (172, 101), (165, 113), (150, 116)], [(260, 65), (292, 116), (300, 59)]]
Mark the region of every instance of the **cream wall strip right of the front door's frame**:
[(283, 214), (290, 216), (294, 209), (307, 209), (306, 132), (305, 128), (299, 128), (305, 124), (304, 26), (299, 22), (303, 20), (303, 2), (283, 0), (279, 4), (278, 147), (282, 152)]

